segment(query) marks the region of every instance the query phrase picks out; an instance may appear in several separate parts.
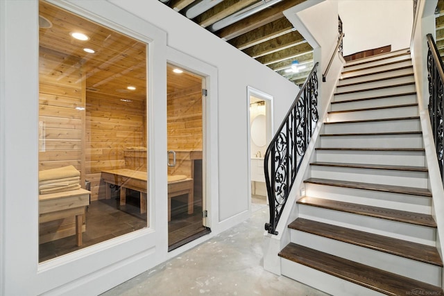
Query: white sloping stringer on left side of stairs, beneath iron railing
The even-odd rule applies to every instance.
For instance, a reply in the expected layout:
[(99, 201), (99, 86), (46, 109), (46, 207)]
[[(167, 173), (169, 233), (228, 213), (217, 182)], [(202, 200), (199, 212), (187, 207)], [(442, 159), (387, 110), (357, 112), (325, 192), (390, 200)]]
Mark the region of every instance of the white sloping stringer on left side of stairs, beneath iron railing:
[[(336, 55), (339, 55), (336, 53)], [(311, 135), (311, 140), (309, 145), (307, 146), (307, 150), (305, 151), (304, 159), (300, 164), (300, 168), (298, 174), (296, 175), (296, 179), (294, 181), (293, 187), (291, 188), (289, 198), (285, 204), (284, 210), (280, 216), (280, 220), (278, 223), (278, 227), (276, 227), (277, 235), (269, 234), (264, 231), (264, 269), (273, 272), (276, 275), (282, 275), (282, 261), (278, 256), (278, 253), (282, 250), (283, 247), (290, 243), (290, 229), (287, 227), (289, 223), (296, 219), (298, 214), (298, 205), (296, 204), (296, 200), (302, 197), (301, 191), (305, 191), (305, 184), (303, 181), (310, 176), (311, 170), (309, 164), (314, 161), (316, 158), (316, 150), (320, 146), (321, 137), (319, 135), (323, 132), (323, 122), (327, 117), (327, 112), (330, 110), (331, 101), (334, 97), (334, 92), (336, 90), (336, 86), (339, 82), (339, 77), (341, 77), (341, 71), (343, 69), (343, 65), (345, 61), (343, 58), (340, 58), (342, 64), (341, 69), (337, 69), (337, 71), (332, 70), (332, 73), (337, 73), (336, 78), (333, 78), (329, 83), (329, 88), (323, 87), (322, 80), (319, 79), (321, 73), (318, 72), (318, 81), (321, 86), (321, 90), (319, 92), (318, 103), (323, 103), (321, 110), (323, 110), (322, 114), (318, 114), (318, 122), (316, 123), (316, 128), (314, 129), (313, 134)], [(323, 94), (327, 95), (323, 95)], [(325, 98), (326, 102), (323, 102)], [(319, 104), (318, 104), (319, 105)], [(325, 107), (327, 106), (327, 107)], [(318, 108), (319, 110), (319, 108)], [(303, 193), (305, 194), (305, 193)]]

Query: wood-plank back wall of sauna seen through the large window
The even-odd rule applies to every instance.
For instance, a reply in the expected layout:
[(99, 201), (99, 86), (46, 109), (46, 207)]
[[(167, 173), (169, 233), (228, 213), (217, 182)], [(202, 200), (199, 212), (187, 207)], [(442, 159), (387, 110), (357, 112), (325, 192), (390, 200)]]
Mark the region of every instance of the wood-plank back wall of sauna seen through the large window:
[(99, 196), (101, 171), (125, 168), (124, 150), (146, 147), (146, 101), (87, 92), (86, 179), (91, 200)]

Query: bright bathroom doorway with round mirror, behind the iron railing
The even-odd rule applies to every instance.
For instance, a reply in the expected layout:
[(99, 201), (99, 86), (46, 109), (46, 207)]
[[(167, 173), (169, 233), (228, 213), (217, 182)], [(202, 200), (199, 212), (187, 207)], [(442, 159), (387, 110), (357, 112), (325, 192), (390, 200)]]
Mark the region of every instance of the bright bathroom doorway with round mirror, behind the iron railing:
[(273, 136), (273, 97), (248, 87), (248, 151), (250, 152), (250, 202), (252, 211), (268, 204), (264, 155)]

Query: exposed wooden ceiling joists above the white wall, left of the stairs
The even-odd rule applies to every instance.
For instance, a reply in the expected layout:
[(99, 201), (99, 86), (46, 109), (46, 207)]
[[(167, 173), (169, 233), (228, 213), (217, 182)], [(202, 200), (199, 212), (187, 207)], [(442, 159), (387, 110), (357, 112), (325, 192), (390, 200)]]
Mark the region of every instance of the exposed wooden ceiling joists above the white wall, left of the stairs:
[[(313, 67), (313, 49), (282, 13), (306, 0), (159, 1), (296, 85)], [(294, 60), (305, 68), (286, 71)]]

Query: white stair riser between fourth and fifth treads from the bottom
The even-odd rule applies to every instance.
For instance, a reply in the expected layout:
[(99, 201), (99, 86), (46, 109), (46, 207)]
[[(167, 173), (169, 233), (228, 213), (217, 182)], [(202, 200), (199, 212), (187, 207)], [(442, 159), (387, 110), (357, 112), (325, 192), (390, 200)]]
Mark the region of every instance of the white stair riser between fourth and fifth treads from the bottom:
[(428, 174), (424, 172), (375, 170), (370, 168), (311, 166), (311, 177), (418, 188), (427, 188), (428, 185)]

